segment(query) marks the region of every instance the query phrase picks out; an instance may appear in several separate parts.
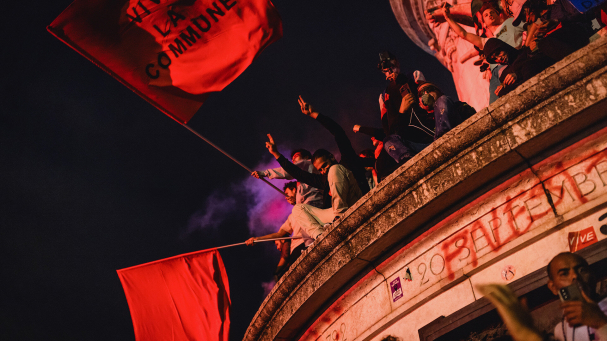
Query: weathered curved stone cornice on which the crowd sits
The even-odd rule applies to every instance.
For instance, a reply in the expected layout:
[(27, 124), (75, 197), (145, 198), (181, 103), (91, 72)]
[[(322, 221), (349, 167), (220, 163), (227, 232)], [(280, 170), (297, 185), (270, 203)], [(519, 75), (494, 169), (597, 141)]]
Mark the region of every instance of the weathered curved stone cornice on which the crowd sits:
[[(540, 174), (537, 183), (545, 181), (541, 168), (529, 168), (534, 158), (544, 158), (547, 150), (563, 149), (606, 125), (606, 61), (607, 41), (590, 44), (395, 171), (304, 252), (266, 297), (244, 340), (296, 339), (361, 278), (376, 271), (392, 276), (397, 269), (379, 264), (399, 257), (395, 251), (487, 189), (525, 169)], [(466, 272), (469, 269), (461, 269), (452, 276)], [(444, 290), (460, 282), (445, 278), (436, 285)], [(392, 309), (404, 314), (439, 293)]]

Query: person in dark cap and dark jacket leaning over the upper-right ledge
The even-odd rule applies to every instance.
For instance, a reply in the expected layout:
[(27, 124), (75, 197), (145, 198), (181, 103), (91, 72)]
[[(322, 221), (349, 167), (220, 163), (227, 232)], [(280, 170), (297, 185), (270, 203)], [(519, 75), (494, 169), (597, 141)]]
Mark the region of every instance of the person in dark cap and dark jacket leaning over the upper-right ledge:
[(496, 38), (487, 40), (483, 54), (490, 63), (508, 65), (502, 71), (500, 76), (501, 85), (495, 91), (500, 97), (554, 63), (541, 51), (531, 53), (528, 47), (517, 50)]

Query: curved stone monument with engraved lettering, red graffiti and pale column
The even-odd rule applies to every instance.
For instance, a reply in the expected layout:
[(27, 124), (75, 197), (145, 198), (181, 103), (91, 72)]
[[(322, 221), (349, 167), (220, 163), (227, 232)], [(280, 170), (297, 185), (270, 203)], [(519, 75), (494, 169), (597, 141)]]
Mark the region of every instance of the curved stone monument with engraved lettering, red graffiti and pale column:
[[(435, 55), (469, 101), (472, 83), (458, 77), (467, 47), (424, 23), (426, 5), (392, 0), (429, 53), (438, 32)], [(550, 329), (560, 311), (544, 269), (563, 251), (586, 258), (607, 289), (607, 38), (480, 110), (367, 193), (280, 279), (244, 340), (469, 339), (500, 322), (476, 289), (484, 283), (530, 298)]]

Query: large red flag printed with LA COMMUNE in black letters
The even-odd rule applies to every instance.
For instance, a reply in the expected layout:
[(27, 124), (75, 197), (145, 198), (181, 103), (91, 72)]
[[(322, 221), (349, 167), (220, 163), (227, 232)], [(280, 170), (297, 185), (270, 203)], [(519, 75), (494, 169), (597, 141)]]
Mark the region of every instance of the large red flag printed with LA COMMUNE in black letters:
[(269, 0), (76, 0), (49, 32), (186, 123), (282, 36)]

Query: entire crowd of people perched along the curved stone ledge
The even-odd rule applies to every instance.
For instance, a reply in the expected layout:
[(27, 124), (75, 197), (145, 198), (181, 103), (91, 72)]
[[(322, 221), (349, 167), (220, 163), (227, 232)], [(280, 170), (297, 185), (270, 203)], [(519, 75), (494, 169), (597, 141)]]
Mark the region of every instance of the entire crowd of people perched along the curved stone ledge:
[[(460, 19), (452, 16), (452, 7)], [(582, 13), (569, 0), (501, 0), (501, 3), (474, 0), (463, 7), (445, 3), (428, 11), (427, 19), (431, 25), (446, 21), (478, 51), (479, 72), (490, 74), (493, 102), (586, 45), (607, 24), (605, 7)], [(466, 16), (474, 22), (475, 34), (458, 23), (458, 20), (465, 22), (461, 18)], [(255, 171), (252, 176), (296, 180), (284, 188), (286, 200), (294, 207), (278, 232), (252, 237), (246, 243), (253, 245), (258, 240), (293, 236), (292, 240), (276, 241), (281, 251), (276, 280), (358, 199), (476, 112), (468, 104), (445, 95), (422, 72), (402, 72), (398, 59), (390, 52), (382, 52), (379, 57), (378, 69), (388, 81), (379, 97), (381, 128), (353, 127), (355, 133), (370, 136), (372, 149), (357, 153), (344, 129), (301, 96), (301, 112), (335, 137), (341, 160), (337, 161), (326, 149), (314, 153), (297, 149), (289, 160), (268, 135), (266, 148), (280, 167)]]

